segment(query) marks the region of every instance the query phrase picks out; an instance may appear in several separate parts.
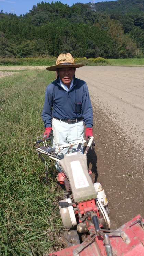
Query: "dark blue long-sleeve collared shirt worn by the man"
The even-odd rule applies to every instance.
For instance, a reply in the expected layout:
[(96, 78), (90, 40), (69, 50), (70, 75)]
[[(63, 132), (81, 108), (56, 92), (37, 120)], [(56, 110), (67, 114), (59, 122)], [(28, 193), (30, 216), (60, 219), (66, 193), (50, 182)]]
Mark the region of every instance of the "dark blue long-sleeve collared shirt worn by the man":
[(45, 92), (42, 111), (44, 127), (52, 126), (52, 117), (74, 120), (83, 117), (86, 127), (93, 126), (93, 110), (87, 84), (74, 75), (72, 88), (67, 92), (60, 85), (59, 75), (50, 83)]

